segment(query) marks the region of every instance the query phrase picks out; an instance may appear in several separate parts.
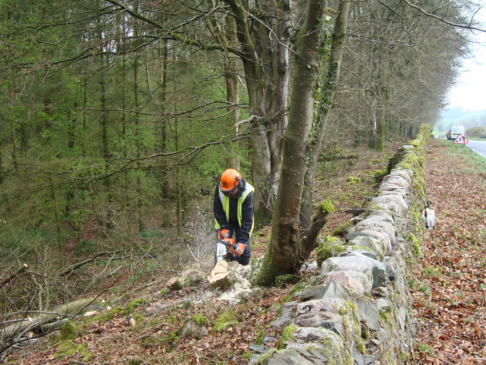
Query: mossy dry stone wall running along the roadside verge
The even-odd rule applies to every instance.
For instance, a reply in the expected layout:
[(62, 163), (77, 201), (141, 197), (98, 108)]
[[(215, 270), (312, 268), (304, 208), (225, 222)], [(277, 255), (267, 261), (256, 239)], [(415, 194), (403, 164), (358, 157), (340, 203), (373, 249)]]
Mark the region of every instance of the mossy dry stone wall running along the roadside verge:
[(427, 125), (399, 148), (345, 240), (317, 250), (320, 274), (281, 307), (279, 350), (249, 364), (407, 364), (415, 326), (409, 279), (420, 255)]

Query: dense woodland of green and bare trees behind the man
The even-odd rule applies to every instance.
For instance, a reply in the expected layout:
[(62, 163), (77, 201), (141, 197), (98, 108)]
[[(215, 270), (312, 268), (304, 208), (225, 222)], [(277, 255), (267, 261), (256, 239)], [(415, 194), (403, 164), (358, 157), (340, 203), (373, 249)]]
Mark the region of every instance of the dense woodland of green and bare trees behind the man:
[[(313, 173), (434, 125), (481, 28), (473, 1), (350, 1), (330, 77), (343, 1), (317, 3), (318, 43), (304, 49), (318, 54), (308, 100), (326, 115), (303, 144), (322, 140)], [(8, 283), (4, 315), (106, 289), (115, 261), (156, 255), (147, 237), (193, 247), (227, 167), (257, 188), (257, 222), (271, 221), (283, 136), (301, 122), (287, 119), (301, 107), (291, 95), (307, 5), (0, 1), (0, 265), (30, 268)], [(91, 278), (73, 274), (85, 265)]]

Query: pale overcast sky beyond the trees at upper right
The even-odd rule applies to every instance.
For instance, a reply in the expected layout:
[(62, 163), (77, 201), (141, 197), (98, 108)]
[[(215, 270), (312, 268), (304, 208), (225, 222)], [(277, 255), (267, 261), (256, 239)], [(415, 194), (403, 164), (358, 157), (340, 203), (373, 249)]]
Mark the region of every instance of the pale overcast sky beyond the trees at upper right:
[[(486, 7), (486, 1), (481, 2)], [(481, 19), (486, 22), (486, 9), (481, 10)], [(463, 110), (476, 111), (486, 109), (486, 34), (476, 31), (474, 34), (473, 38), (483, 45), (475, 45), (475, 61), (464, 60), (458, 84), (449, 92), (448, 108), (461, 107)]]

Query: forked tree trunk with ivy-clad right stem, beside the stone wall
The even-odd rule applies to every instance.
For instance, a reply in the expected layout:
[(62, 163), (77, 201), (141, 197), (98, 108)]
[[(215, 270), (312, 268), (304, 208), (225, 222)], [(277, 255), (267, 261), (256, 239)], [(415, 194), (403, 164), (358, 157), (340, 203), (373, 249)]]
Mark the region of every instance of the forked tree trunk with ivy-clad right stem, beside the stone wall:
[[(272, 238), (270, 247), (263, 258), (261, 273), (257, 275), (257, 282), (263, 285), (271, 284), (278, 274), (295, 273), (301, 266), (303, 259), (308, 255), (303, 246), (303, 237), (300, 228), (300, 205), (304, 187), (304, 176), (307, 169), (315, 170), (317, 153), (312, 151), (320, 148), (322, 136), (310, 140), (312, 125), (314, 122), (315, 105), (315, 81), (319, 71), (319, 33), (320, 24), (324, 23), (323, 13), (327, 7), (327, 1), (310, 0), (308, 16), (300, 32), (297, 42), (295, 59), (295, 77), (292, 89), (289, 123), (283, 139), (282, 170), (278, 187), (278, 198), (275, 206)], [(333, 50), (333, 58), (328, 66), (327, 79), (321, 89), (320, 107), (317, 112), (317, 128), (324, 128), (327, 121), (326, 114), (329, 111), (334, 94), (333, 85), (339, 75), (339, 63), (342, 55), (342, 41), (346, 33), (348, 1), (340, 1), (338, 17), (336, 18), (336, 42)], [(321, 20), (322, 19), (322, 20)], [(323, 42), (322, 44), (326, 44)], [(324, 117), (324, 118), (323, 118)], [(316, 135), (319, 134), (317, 130)], [(314, 149), (308, 146), (314, 144)], [(315, 157), (308, 167), (308, 158), (311, 154)], [(311, 161), (312, 161), (311, 158)], [(311, 172), (311, 171), (309, 171)], [(312, 171), (313, 176), (313, 171)], [(321, 212), (322, 213), (322, 212)], [(322, 214), (319, 219), (322, 225), (327, 214)], [(322, 228), (322, 225), (320, 228)], [(309, 224), (305, 225), (308, 232)], [(317, 231), (320, 231), (320, 228)], [(318, 233), (318, 232), (317, 232)], [(312, 232), (317, 236), (316, 232)]]

